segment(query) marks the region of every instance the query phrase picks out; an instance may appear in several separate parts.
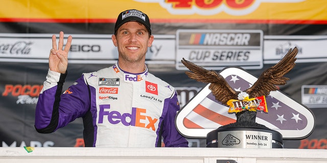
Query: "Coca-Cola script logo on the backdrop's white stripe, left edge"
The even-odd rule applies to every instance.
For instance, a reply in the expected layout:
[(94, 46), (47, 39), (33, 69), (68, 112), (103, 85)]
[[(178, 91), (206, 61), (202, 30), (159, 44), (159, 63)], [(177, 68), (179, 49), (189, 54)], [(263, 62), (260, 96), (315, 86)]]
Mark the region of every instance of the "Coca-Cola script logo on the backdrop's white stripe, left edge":
[(17, 41), (15, 43), (0, 43), (0, 53), (9, 55), (28, 55), (31, 52), (31, 41)]

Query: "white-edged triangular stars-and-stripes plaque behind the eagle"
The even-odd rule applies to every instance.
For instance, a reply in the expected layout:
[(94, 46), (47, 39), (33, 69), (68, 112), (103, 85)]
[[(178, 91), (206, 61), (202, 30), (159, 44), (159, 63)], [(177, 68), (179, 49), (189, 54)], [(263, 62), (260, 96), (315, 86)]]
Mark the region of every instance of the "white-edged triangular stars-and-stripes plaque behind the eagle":
[[(236, 91), (244, 91), (258, 79), (239, 67), (223, 69), (220, 74)], [(209, 84), (177, 113), (178, 131), (189, 138), (206, 138), (206, 134), (220, 126), (236, 122), (228, 107), (218, 102)], [(258, 112), (256, 122), (276, 130), (283, 139), (303, 139), (314, 128), (314, 116), (304, 105), (280, 91), (272, 91), (266, 97), (268, 113)]]

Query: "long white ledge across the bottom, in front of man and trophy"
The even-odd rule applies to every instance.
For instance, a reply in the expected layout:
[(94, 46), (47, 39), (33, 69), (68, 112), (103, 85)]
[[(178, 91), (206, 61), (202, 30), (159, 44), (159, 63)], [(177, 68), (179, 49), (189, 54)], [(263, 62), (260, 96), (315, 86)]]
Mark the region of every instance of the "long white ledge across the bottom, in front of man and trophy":
[(0, 162), (327, 162), (326, 149), (0, 147)]

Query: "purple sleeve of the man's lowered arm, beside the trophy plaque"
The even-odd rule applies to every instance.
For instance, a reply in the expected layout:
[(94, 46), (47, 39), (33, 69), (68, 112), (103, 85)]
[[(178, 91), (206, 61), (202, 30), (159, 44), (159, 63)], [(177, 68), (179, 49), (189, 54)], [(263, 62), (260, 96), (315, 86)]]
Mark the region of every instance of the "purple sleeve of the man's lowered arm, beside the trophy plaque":
[(175, 91), (174, 96), (170, 99), (162, 126), (162, 137), (164, 137), (165, 147), (189, 147), (188, 141), (177, 131), (175, 126), (175, 117), (179, 109), (177, 93)]

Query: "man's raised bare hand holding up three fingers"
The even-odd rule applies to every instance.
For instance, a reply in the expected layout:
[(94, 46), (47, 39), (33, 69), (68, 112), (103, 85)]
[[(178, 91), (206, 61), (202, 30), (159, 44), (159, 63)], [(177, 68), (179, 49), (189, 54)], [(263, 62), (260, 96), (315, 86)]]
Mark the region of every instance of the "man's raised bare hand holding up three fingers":
[(63, 32), (59, 33), (57, 47), (56, 35), (52, 35), (52, 49), (49, 56), (49, 68), (51, 71), (65, 73), (68, 66), (68, 51), (71, 48), (72, 36), (68, 36), (65, 48), (63, 48)]

